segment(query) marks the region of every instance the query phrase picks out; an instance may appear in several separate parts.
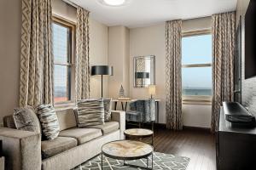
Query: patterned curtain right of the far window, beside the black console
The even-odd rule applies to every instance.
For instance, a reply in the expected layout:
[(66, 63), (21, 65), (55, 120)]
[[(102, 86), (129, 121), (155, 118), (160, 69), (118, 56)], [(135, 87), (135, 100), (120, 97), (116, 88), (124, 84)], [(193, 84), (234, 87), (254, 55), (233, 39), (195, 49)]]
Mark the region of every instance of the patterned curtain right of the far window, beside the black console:
[(212, 132), (218, 128), (223, 101), (233, 100), (235, 12), (212, 15)]

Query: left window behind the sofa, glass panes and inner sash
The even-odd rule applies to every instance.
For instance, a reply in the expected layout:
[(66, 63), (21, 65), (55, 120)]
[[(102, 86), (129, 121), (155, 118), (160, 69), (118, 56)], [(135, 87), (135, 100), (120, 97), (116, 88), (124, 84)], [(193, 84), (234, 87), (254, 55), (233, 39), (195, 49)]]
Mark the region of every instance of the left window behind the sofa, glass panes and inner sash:
[(73, 100), (73, 31), (74, 26), (56, 19), (52, 23), (54, 54), (55, 104)]

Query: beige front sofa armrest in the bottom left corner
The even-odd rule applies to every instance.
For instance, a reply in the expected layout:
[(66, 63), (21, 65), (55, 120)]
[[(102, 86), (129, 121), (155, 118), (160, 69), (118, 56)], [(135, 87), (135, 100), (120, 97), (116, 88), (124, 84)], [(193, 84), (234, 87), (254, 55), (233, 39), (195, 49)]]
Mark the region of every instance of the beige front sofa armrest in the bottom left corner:
[(41, 134), (3, 127), (0, 128), (3, 141), (3, 156), (6, 169), (41, 169)]

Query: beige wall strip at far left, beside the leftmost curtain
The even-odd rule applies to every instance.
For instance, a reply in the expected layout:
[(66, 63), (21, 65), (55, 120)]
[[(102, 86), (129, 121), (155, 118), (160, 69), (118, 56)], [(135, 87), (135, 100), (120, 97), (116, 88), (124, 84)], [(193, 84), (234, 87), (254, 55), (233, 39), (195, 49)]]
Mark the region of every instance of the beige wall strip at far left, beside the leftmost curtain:
[(21, 1), (0, 1), (0, 124), (19, 105)]

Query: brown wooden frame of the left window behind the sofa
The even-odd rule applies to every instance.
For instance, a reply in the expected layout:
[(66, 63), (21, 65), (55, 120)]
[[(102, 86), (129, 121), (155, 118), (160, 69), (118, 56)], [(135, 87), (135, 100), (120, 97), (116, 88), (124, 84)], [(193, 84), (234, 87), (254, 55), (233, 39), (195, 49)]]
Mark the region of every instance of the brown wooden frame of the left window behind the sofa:
[(71, 75), (70, 75), (70, 100), (61, 101), (61, 102), (54, 102), (54, 105), (57, 107), (66, 107), (69, 105), (73, 105), (74, 100), (74, 91), (75, 91), (75, 36), (76, 36), (76, 24), (73, 21), (66, 20), (58, 15), (53, 15), (52, 17), (52, 24), (57, 24), (59, 26), (67, 27), (70, 30), (68, 35), (68, 39), (70, 43), (68, 43), (68, 62), (55, 62), (54, 65), (66, 65), (70, 66)]

